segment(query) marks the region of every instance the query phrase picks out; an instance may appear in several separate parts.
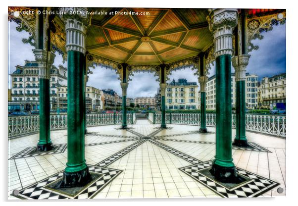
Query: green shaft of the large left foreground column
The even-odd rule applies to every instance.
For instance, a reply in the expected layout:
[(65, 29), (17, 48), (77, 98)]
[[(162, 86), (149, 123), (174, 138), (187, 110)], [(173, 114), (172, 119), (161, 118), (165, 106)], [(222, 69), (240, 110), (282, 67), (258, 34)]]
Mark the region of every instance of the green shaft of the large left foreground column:
[(67, 163), (65, 172), (72, 173), (87, 168), (85, 163), (85, 101), (84, 54), (67, 52)]

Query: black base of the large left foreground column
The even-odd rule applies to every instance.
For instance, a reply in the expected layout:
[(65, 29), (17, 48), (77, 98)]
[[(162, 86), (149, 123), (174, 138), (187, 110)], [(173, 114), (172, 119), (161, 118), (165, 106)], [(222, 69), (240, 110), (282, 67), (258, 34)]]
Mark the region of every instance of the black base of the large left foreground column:
[(87, 185), (91, 180), (88, 167), (77, 172), (64, 171), (62, 181), (58, 185), (58, 188), (82, 187)]

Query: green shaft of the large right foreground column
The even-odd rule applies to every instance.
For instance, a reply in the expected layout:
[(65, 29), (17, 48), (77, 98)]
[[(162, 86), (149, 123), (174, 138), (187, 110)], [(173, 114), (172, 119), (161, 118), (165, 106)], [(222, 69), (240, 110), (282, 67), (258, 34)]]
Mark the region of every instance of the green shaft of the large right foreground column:
[(235, 167), (232, 158), (231, 55), (216, 57), (216, 154), (213, 165)]

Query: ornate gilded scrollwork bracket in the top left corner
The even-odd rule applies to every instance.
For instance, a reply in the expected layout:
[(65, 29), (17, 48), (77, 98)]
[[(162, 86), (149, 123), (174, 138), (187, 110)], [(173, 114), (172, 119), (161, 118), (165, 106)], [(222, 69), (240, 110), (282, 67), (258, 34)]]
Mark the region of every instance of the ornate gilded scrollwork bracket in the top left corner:
[[(18, 12), (18, 15), (14, 15), (14, 12)], [(35, 47), (35, 10), (28, 7), (8, 7), (8, 21), (14, 21), (19, 26), (16, 30), (26, 31), (29, 33), (28, 39), (22, 39), (22, 42)]]

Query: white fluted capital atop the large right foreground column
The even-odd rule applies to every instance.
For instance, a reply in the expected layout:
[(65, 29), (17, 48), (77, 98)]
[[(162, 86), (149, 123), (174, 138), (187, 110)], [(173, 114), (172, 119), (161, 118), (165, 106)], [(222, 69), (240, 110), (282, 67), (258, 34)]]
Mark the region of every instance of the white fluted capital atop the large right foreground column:
[(224, 54), (233, 54), (233, 29), (238, 24), (237, 9), (209, 9), (207, 16), (209, 30), (214, 37), (215, 58)]

